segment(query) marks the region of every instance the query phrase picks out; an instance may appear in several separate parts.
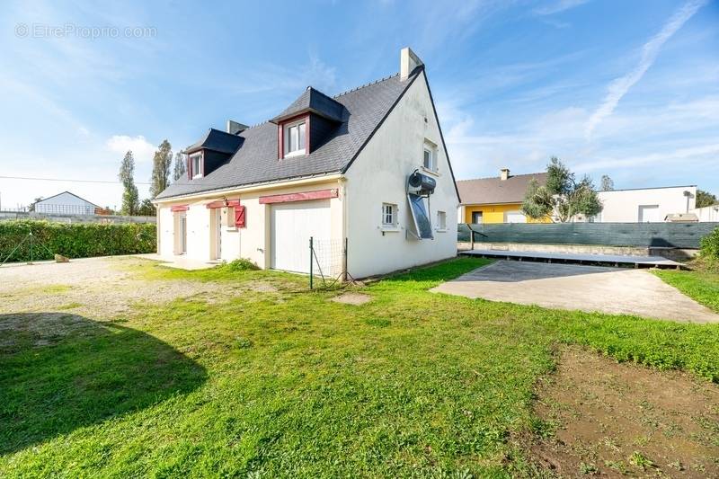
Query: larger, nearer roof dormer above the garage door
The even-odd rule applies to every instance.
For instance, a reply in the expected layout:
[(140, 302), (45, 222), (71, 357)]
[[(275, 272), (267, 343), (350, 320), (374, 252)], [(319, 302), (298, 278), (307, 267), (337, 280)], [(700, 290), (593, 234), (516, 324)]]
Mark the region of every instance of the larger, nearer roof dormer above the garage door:
[(271, 120), (277, 124), (278, 158), (309, 155), (342, 124), (345, 108), (308, 86), (297, 100)]

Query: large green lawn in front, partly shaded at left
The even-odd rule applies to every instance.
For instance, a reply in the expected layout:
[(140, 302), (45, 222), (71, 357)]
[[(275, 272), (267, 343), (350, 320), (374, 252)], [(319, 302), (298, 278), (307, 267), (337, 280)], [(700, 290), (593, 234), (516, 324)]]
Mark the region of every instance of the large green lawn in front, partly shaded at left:
[[(377, 282), (364, 306), (288, 274), (148, 265), (150, 284), (242, 292), (113, 323), (58, 313), (82, 333), (40, 348), (17, 333), (0, 347), (0, 476), (534, 476), (514, 438), (546, 430), (533, 385), (557, 344), (719, 382), (719, 325), (427, 291), (484, 262)], [(278, 291), (240, 288), (258, 279)]]

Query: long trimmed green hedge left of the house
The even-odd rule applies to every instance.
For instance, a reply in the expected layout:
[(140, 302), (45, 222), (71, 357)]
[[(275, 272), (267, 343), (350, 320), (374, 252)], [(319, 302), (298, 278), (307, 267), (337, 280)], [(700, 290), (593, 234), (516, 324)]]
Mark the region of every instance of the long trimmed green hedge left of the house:
[[(8, 262), (52, 260), (112, 254), (155, 253), (156, 226), (152, 223), (53, 223), (37, 220), (0, 221), (0, 262), (22, 242)], [(28, 233), (32, 232), (32, 253)]]

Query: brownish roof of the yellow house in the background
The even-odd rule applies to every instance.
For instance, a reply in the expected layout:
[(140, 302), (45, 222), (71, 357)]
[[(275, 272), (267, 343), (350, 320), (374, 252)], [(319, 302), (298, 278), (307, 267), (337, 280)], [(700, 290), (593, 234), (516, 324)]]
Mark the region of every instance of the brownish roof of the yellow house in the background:
[(463, 205), (521, 203), (532, 179), (546, 184), (546, 173), (515, 174), (502, 182), (499, 176), (457, 182)]

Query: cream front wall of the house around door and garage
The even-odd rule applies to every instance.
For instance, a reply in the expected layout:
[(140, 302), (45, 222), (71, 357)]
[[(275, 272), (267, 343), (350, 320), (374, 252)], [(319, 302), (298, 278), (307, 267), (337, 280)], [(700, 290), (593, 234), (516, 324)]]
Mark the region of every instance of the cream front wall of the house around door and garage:
[[(297, 193), (302, 191), (317, 191), (339, 189), (340, 182), (301, 182), (293, 186), (274, 185), (264, 188), (255, 188), (249, 191), (226, 192), (222, 195), (202, 197), (196, 200), (175, 200), (173, 203), (158, 205), (158, 253), (167, 260), (172, 261), (179, 250), (178, 242), (174, 237), (176, 216), (179, 213), (171, 211), (173, 205), (188, 205), (187, 215), (187, 257), (198, 261), (210, 261), (214, 253), (214, 228), (212, 227), (213, 210), (207, 208), (212, 201), (240, 199), (245, 207), (244, 228), (228, 227), (234, 225), (235, 217), (227, 218), (228, 211), (222, 208), (222, 260), (230, 262), (237, 258), (246, 258), (256, 263), (260, 268), (267, 269), (271, 265), (270, 235), (271, 235), (271, 205), (261, 204), (260, 197), (276, 194)], [(343, 200), (335, 198), (330, 200), (332, 217), (332, 237), (342, 239)], [(232, 211), (232, 208), (229, 209)], [(179, 229), (177, 229), (179, 232)], [(308, 246), (309, 247), (309, 246)], [(309, 257), (309, 251), (307, 252)], [(308, 260), (309, 261), (309, 260)]]

